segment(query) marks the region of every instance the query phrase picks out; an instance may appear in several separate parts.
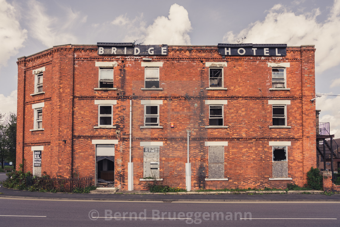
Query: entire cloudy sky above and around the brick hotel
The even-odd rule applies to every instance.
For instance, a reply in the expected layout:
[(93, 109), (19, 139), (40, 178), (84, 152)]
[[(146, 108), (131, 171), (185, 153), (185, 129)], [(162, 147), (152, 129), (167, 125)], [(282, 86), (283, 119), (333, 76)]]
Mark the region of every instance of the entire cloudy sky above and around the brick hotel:
[(315, 45), (320, 122), (340, 137), (340, 0), (0, 0), (0, 113), (16, 111), (17, 58), (61, 44)]

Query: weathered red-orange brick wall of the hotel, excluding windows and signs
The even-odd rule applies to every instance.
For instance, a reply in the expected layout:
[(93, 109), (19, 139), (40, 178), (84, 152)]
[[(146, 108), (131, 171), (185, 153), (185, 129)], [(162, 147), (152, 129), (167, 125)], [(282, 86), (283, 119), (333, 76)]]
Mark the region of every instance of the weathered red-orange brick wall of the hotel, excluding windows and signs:
[[(132, 100), (132, 162), (134, 188), (145, 189), (143, 147), (141, 141), (163, 142), (160, 148), (160, 178), (163, 184), (185, 188), (187, 130), (190, 130), (189, 153), (192, 189), (198, 188), (286, 188), (287, 183), (303, 186), (306, 173), (316, 165), (314, 47), (288, 47), (285, 57), (226, 56), (216, 46), (169, 46), (169, 54), (152, 56), (163, 62), (159, 84), (163, 90), (141, 90), (144, 67), (139, 56), (99, 56), (97, 46), (54, 47), (18, 60), (18, 139), (17, 163), (25, 158), (25, 171), (32, 171), (31, 146), (44, 146), (42, 171), (51, 176), (95, 177), (95, 145), (92, 140), (118, 140), (115, 145), (115, 185), (127, 189), (129, 162), (129, 104)], [(114, 87), (117, 90), (95, 90), (98, 87), (96, 61), (117, 62)], [(227, 90), (206, 90), (209, 68), (206, 62), (227, 62), (224, 84)], [(290, 90), (271, 91), (271, 67), (267, 62), (289, 62), (286, 68)], [(34, 91), (32, 70), (46, 67), (45, 94)], [(205, 100), (227, 100), (224, 126), (209, 125), (209, 105)], [(117, 100), (113, 105), (113, 126), (98, 126), (98, 105), (94, 100)], [(143, 126), (144, 106), (141, 100), (162, 100), (159, 125)], [(287, 125), (291, 128), (269, 128), (272, 105), (268, 100), (290, 100)], [(44, 131), (33, 128), (32, 104), (45, 102)], [(174, 123), (174, 128), (170, 124)], [(116, 131), (118, 130), (118, 134)], [(66, 143), (63, 142), (66, 141)], [(224, 177), (227, 181), (208, 178), (206, 141), (227, 141), (224, 147)], [(269, 141), (290, 141), (287, 148), (288, 177), (272, 178), (272, 147)]]

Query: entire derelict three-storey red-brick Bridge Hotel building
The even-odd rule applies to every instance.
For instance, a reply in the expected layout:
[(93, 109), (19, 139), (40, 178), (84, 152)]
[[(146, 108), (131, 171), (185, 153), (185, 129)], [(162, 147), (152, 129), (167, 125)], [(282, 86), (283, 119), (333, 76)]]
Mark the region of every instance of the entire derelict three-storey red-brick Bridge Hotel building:
[(314, 46), (97, 43), (18, 59), (17, 168), (124, 190), (303, 186)]

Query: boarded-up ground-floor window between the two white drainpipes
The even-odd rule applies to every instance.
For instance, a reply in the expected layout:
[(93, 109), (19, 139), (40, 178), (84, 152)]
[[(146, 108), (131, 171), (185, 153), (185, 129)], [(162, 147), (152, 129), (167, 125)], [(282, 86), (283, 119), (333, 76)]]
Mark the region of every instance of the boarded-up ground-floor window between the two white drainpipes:
[(143, 177), (159, 178), (159, 147), (144, 147)]

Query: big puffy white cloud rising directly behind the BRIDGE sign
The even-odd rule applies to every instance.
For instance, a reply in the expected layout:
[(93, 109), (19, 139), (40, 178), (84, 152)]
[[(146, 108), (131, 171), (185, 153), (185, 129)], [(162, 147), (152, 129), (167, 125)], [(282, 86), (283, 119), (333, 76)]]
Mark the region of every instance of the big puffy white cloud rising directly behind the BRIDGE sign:
[(188, 33), (192, 28), (188, 11), (178, 4), (171, 5), (168, 17), (157, 17), (148, 27), (143, 20), (143, 14), (133, 20), (126, 14), (120, 15), (111, 24), (124, 28), (124, 42), (138, 39), (137, 43), (144, 44), (190, 45)]

